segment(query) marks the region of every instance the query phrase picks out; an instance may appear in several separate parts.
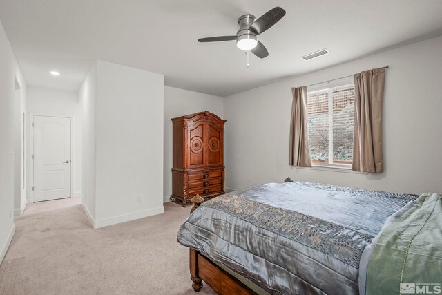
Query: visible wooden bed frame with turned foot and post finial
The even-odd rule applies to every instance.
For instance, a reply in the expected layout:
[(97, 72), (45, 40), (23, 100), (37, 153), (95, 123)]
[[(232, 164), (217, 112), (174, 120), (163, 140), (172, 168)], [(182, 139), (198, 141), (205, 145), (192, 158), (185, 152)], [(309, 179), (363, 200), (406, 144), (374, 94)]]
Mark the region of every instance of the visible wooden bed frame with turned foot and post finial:
[[(196, 195), (191, 199), (193, 207), (191, 213), (204, 202), (204, 198)], [(249, 287), (235, 278), (224, 269), (213, 263), (195, 249), (190, 249), (190, 270), (192, 287), (195, 292), (202, 288), (202, 280), (218, 294), (256, 294)]]

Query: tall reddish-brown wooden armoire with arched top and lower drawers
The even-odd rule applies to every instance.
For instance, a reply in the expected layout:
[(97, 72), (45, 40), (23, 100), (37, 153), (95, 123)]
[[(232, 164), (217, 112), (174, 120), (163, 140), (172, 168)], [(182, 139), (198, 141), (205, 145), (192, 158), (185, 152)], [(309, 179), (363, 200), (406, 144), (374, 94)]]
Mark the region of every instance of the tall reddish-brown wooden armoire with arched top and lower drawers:
[(176, 117), (173, 122), (171, 202), (186, 207), (197, 193), (224, 193), (224, 122), (208, 111)]

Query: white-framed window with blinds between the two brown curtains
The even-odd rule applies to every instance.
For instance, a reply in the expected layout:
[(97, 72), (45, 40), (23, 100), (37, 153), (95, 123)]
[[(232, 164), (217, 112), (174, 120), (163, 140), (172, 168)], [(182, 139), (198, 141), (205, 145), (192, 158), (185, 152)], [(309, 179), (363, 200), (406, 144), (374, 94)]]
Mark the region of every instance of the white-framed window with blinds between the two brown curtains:
[(352, 164), (354, 84), (309, 91), (307, 113), (311, 162)]

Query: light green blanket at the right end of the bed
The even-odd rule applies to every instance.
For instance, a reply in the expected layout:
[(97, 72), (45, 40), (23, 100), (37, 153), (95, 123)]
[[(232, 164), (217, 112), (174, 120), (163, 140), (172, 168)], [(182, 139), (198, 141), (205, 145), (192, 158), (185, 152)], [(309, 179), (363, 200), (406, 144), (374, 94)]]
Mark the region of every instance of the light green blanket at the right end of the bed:
[(442, 195), (423, 193), (384, 229), (367, 271), (367, 295), (441, 294)]

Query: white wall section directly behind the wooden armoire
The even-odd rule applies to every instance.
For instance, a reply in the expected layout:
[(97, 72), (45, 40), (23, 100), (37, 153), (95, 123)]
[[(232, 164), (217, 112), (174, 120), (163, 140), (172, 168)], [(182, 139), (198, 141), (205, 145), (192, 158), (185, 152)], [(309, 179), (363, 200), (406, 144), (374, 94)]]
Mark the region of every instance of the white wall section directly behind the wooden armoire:
[[(164, 202), (170, 202), (172, 194), (172, 121), (174, 117), (202, 111), (224, 116), (222, 97), (164, 87)], [(227, 123), (229, 124), (229, 123)]]

